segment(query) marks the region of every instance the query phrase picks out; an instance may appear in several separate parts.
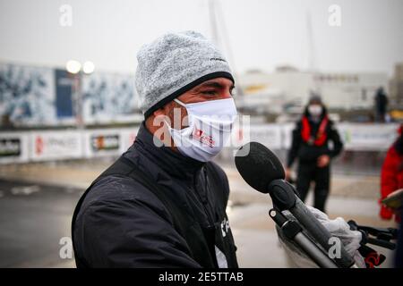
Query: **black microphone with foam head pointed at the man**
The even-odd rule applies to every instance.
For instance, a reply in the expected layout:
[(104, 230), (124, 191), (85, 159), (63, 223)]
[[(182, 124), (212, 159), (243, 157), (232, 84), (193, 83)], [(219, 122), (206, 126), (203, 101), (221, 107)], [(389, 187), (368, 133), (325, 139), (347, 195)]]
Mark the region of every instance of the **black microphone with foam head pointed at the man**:
[[(273, 205), (280, 211), (288, 210), (308, 231), (314, 240), (328, 253), (332, 245), (330, 232), (298, 198), (294, 186), (284, 180), (285, 172), (279, 158), (269, 148), (258, 142), (250, 142), (240, 147), (235, 157), (236, 169), (253, 189), (269, 193)], [(340, 267), (355, 265), (354, 259), (340, 243), (340, 257), (335, 257)]]

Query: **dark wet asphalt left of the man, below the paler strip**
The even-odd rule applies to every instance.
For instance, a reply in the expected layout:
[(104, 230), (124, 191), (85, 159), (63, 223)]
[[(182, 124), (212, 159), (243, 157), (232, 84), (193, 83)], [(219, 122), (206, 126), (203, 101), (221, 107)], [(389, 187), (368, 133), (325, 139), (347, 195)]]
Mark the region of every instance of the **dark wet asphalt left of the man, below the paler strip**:
[(0, 181), (0, 267), (73, 266), (59, 257), (82, 190)]

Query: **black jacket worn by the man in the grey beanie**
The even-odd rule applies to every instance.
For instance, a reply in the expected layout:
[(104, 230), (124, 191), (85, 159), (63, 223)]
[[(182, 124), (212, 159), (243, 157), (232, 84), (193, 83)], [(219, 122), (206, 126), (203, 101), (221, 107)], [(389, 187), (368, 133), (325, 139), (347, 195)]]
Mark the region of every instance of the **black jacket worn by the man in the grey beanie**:
[[(214, 252), (218, 247), (227, 265), (237, 267), (225, 213), (227, 176), (217, 164), (156, 147), (144, 124), (123, 156), (147, 174), (159, 191), (170, 192), (171, 198), (181, 202), (189, 214), (186, 219), (194, 223), (192, 235), (176, 228), (175, 209), (168, 209), (150, 188), (127, 176), (109, 175), (90, 189), (74, 221), (78, 266), (217, 267)], [(215, 231), (208, 239), (203, 232), (212, 226)]]

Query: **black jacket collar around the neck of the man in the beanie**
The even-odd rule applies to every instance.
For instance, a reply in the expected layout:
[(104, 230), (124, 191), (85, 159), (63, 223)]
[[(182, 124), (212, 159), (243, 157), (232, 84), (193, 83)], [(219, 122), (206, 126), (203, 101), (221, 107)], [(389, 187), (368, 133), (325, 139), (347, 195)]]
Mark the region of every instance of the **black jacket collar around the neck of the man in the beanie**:
[[(160, 143), (160, 147), (156, 146), (154, 140)], [(164, 146), (159, 139), (154, 138), (144, 122), (141, 122), (133, 147), (165, 172), (182, 179), (193, 180), (195, 173), (205, 164)]]

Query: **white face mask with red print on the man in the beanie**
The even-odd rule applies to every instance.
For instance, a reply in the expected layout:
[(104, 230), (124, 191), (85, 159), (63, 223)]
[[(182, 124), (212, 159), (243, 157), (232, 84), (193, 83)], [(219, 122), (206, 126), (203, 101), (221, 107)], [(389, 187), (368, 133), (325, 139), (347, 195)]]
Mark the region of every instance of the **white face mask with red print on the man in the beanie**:
[(236, 120), (236, 105), (233, 98), (209, 100), (185, 105), (189, 126), (182, 130), (167, 124), (176, 147), (184, 156), (201, 162), (210, 161), (227, 144), (232, 124)]

